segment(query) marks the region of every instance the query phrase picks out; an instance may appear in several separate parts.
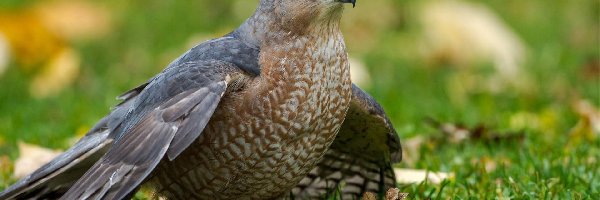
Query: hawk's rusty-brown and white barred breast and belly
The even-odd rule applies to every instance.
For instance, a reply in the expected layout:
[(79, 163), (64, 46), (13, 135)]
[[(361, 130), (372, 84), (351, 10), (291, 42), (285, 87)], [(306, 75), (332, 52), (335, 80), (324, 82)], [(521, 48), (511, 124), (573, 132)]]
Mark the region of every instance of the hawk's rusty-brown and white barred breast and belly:
[(260, 77), (231, 86), (198, 141), (150, 178), (169, 199), (285, 195), (335, 139), (351, 97), (341, 35), (263, 49)]

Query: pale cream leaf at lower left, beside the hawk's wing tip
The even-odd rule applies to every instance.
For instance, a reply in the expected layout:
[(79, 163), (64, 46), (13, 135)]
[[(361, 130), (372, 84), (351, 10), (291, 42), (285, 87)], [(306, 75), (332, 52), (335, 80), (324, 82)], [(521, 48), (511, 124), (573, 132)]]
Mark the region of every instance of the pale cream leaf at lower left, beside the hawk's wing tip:
[(15, 178), (23, 178), (42, 165), (50, 162), (62, 152), (19, 142), (19, 158), (15, 161)]

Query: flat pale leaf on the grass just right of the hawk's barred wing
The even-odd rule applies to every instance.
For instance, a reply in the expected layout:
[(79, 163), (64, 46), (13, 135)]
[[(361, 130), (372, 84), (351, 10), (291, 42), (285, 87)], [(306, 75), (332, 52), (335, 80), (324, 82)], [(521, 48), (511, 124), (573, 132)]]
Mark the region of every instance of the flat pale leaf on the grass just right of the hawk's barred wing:
[(427, 181), (434, 184), (440, 184), (445, 179), (454, 177), (452, 173), (431, 172), (418, 169), (394, 169), (396, 173), (396, 181), (398, 183), (420, 183)]

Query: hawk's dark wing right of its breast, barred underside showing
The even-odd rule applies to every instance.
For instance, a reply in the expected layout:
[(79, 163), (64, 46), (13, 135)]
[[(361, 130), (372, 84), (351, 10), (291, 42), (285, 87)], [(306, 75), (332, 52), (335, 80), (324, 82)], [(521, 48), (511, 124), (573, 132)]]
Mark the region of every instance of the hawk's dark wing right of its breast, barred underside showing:
[(332, 195), (360, 199), (364, 192), (382, 194), (395, 187), (391, 164), (401, 159), (400, 139), (385, 112), (353, 85), (350, 109), (335, 141), (291, 195), (301, 199)]

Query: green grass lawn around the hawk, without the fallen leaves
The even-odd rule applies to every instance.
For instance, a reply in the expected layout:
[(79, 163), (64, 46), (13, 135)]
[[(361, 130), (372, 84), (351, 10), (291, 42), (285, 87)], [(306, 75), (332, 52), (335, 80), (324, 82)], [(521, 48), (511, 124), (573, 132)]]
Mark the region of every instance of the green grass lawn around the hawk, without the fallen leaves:
[[(346, 21), (344, 29), (350, 55), (362, 60), (373, 77), (366, 89), (386, 109), (401, 139), (425, 140), (417, 148), (406, 147), (418, 156), (398, 167), (455, 174), (441, 184), (399, 185), (403, 192), (415, 199), (600, 198), (600, 139), (598, 133), (586, 138), (573, 131), (581, 118), (571, 106), (577, 98), (600, 106), (600, 77), (584, 72), (588, 65), (597, 68), (593, 63), (600, 60), (598, 1), (477, 1), (498, 13), (527, 45), (523, 73), (532, 84), (500, 92), (475, 84), (461, 94), (452, 85), (457, 77), (487, 80), (494, 75), (492, 67), (483, 63), (464, 71), (417, 56), (413, 40), (422, 34), (416, 20), (420, 1), (379, 1), (397, 19), (378, 32), (367, 31), (369, 37), (356, 33), (368, 25), (354, 27)], [(16, 64), (0, 77), (0, 155), (16, 159), (18, 141), (68, 148), (77, 132), (93, 126), (118, 103), (115, 96), (159, 72), (189, 47), (190, 38), (216, 37), (241, 23), (235, 2), (105, 1), (114, 12), (113, 31), (97, 40), (72, 42), (83, 63), (72, 86), (40, 100), (27, 93), (31, 73)], [(377, 10), (362, 9), (368, 1), (359, 3), (346, 14), (358, 16), (354, 19), (377, 15)], [(365, 42), (374, 45), (364, 47)], [(452, 143), (427, 118), (483, 126), (489, 135), (506, 137)], [(494, 166), (486, 169), (486, 163)], [(10, 166), (0, 164), (0, 189), (15, 181), (10, 173)]]

